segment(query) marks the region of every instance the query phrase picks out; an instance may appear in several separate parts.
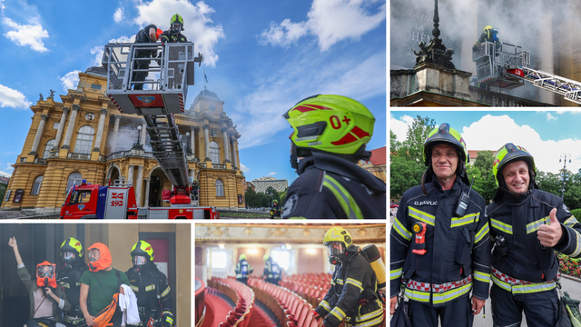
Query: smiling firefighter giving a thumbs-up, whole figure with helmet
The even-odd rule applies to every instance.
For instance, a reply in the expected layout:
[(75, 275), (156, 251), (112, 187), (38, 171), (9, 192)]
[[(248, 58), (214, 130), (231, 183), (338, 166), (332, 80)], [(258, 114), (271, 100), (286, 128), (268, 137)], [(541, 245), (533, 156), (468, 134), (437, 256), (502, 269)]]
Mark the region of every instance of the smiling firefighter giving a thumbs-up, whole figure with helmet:
[(498, 190), (487, 206), (492, 253), (492, 320), (517, 326), (556, 326), (559, 260), (581, 256), (581, 223), (558, 196), (538, 190), (535, 160), (522, 146), (505, 144), (492, 173)]

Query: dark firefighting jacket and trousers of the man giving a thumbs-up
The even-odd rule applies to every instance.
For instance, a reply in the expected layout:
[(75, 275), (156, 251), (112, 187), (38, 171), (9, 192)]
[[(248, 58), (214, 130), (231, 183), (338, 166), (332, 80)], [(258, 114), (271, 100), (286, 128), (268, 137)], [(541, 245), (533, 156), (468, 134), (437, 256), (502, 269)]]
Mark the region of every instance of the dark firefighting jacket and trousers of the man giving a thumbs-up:
[[(563, 236), (553, 248), (540, 244), (537, 232), (556, 219)], [(507, 246), (493, 252), (490, 291), (492, 318), (497, 326), (518, 326), (525, 312), (528, 326), (555, 326), (558, 316), (555, 251), (581, 256), (581, 223), (558, 196), (533, 189), (521, 196), (499, 196), (487, 206), (492, 237), (503, 237)]]

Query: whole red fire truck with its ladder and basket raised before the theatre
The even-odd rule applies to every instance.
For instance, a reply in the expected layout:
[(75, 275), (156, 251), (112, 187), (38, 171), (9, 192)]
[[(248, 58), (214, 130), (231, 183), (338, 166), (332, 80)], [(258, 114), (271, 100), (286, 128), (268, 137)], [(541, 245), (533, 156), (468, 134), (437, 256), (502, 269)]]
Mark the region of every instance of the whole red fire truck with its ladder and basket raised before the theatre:
[[(144, 56), (143, 54), (160, 54)], [(192, 43), (109, 44), (103, 52), (107, 72), (106, 95), (123, 114), (142, 115), (150, 135), (153, 156), (172, 183), (171, 207), (139, 208), (133, 186), (125, 181), (113, 185), (74, 186), (61, 210), (63, 218), (210, 218), (217, 219), (215, 207), (192, 206), (188, 162), (174, 114), (183, 114), (188, 85), (193, 85), (193, 67), (202, 64)], [(137, 63), (151, 61), (147, 69)], [(135, 73), (147, 73), (137, 80)], [(143, 90), (133, 90), (143, 84)], [(83, 195), (84, 193), (84, 195)]]

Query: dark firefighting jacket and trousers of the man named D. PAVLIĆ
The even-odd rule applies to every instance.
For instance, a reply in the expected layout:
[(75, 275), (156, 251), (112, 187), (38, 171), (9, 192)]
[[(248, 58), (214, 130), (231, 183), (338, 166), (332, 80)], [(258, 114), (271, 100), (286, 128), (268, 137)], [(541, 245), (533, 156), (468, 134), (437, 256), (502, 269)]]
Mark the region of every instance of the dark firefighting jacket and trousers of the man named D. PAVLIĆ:
[[(474, 190), (463, 216), (455, 212), (468, 185), (456, 178), (450, 190), (438, 180), (403, 194), (390, 232), (390, 297), (403, 285), (413, 326), (471, 326), (469, 294), (488, 298), (489, 226), (484, 199)], [(423, 244), (413, 229), (425, 225)], [(416, 253), (413, 251), (417, 250)], [(426, 252), (421, 254), (422, 251)]]

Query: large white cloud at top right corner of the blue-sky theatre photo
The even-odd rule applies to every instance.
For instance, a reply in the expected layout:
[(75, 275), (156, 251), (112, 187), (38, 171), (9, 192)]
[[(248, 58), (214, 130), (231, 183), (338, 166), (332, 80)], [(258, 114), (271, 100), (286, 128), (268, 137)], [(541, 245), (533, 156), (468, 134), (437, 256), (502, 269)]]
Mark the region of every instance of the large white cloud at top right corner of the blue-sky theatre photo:
[[(377, 4), (376, 13), (369, 13), (367, 8)], [(344, 39), (359, 39), (385, 19), (386, 3), (380, 0), (314, 0), (306, 21), (291, 23), (285, 19), (280, 25), (271, 23), (259, 42), (286, 47), (304, 35), (315, 35), (320, 50), (325, 51)]]

